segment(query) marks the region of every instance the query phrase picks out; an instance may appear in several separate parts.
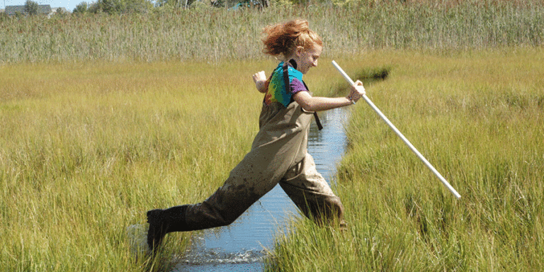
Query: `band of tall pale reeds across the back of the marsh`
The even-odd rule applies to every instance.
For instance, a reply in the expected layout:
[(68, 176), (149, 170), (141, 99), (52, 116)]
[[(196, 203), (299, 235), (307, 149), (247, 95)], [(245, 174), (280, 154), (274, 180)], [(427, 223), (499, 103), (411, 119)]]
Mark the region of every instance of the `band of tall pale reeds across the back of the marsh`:
[(0, 63), (262, 58), (262, 28), (297, 17), (306, 18), (322, 35), (325, 57), (377, 49), (465, 50), (544, 42), (542, 0), (339, 1), (241, 12), (157, 8), (122, 16), (0, 16)]

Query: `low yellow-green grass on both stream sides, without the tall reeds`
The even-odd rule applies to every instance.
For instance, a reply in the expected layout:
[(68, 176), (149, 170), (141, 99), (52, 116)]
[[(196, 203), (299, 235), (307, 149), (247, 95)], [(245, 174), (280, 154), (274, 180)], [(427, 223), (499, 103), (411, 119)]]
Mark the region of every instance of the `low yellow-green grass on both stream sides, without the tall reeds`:
[[(271, 271), (535, 271), (542, 267), (541, 49), (372, 51), (369, 97), (463, 196), (456, 200), (364, 102), (335, 190), (346, 232), (295, 222)], [(307, 75), (331, 94), (323, 59)], [(203, 200), (248, 151), (273, 61), (11, 64), (0, 83), (0, 259), (7, 271), (149, 271), (127, 227), (149, 208)], [(360, 72), (360, 73), (358, 73)], [(357, 75), (358, 74), (358, 75)], [(210, 80), (212, 79), (212, 80)], [(333, 79), (331, 81), (331, 79)]]

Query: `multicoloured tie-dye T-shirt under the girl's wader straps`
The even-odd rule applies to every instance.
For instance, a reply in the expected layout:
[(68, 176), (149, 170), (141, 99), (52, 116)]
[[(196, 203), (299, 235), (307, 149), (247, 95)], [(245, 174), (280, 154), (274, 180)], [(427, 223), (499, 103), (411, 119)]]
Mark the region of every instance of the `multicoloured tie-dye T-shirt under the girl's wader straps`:
[[(296, 64), (294, 64), (296, 65)], [(264, 103), (270, 105), (273, 102), (282, 103), (287, 107), (292, 101), (293, 94), (299, 91), (307, 91), (306, 86), (302, 82), (302, 73), (297, 71), (291, 65), (288, 65), (290, 91), (285, 91), (285, 79), (283, 78), (283, 62), (278, 64), (274, 70), (270, 82), (268, 82), (268, 91), (264, 97)]]

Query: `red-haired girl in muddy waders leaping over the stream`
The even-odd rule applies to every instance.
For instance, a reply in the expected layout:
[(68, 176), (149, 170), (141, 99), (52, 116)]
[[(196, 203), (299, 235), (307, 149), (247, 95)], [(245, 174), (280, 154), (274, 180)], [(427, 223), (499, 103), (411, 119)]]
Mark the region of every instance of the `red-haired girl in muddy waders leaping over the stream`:
[(147, 212), (152, 251), (166, 233), (229, 225), (278, 183), (318, 224), (344, 222), (344, 206), (307, 153), (307, 135), (315, 111), (355, 103), (365, 94), (363, 84), (356, 81), (346, 97), (311, 96), (302, 75), (317, 66), (323, 46), (319, 35), (303, 20), (267, 26), (263, 33), (263, 52), (282, 62), (268, 79), (262, 71), (253, 76), (256, 88), (266, 95), (251, 151), (202, 203)]

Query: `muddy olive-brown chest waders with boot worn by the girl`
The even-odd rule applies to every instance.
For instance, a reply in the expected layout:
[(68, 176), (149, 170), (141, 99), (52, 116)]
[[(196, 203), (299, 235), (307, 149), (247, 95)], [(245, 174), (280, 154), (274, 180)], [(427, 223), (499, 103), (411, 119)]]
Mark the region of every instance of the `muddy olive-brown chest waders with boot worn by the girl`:
[(307, 152), (313, 116), (295, 101), (287, 107), (263, 103), (251, 151), (223, 186), (202, 203), (147, 212), (149, 248), (155, 251), (169, 232), (229, 225), (278, 183), (307, 217), (318, 224), (334, 220), (342, 224), (344, 206)]

